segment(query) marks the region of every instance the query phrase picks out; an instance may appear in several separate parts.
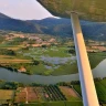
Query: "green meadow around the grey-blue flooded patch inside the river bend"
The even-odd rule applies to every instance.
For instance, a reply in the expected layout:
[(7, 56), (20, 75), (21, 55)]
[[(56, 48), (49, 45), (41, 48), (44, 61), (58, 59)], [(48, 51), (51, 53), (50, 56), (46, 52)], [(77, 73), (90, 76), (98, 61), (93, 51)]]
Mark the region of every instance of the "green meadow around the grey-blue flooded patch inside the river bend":
[[(32, 57), (34, 60), (40, 61), (39, 65), (28, 65), (26, 70), (31, 74), (40, 74), (40, 75), (66, 75), (66, 74), (74, 74), (77, 73), (77, 62), (76, 60), (71, 60), (65, 62), (64, 64), (55, 64), (51, 63), (50, 61), (46, 61), (47, 59), (54, 60), (56, 62), (57, 59), (62, 59), (63, 61), (65, 57), (71, 59), (73, 55), (71, 55), (68, 52), (68, 47), (66, 46), (51, 46), (46, 49), (42, 47), (32, 47), (30, 50), (23, 50), (19, 51), (19, 55), (23, 55), (28, 59)], [(21, 55), (21, 56), (22, 56)], [(46, 57), (45, 61), (41, 57)], [(104, 59), (106, 59), (106, 53), (88, 53), (91, 67), (96, 67)], [(73, 62), (71, 64), (71, 62)], [(50, 68), (46, 68), (49, 66)], [(55, 68), (57, 66), (57, 68)]]

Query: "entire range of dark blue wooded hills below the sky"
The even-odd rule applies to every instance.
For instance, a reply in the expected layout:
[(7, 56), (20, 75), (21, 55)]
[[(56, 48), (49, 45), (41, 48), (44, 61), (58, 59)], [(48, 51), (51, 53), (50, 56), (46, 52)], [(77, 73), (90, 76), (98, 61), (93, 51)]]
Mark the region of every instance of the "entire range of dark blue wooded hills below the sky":
[[(106, 40), (106, 23), (81, 21), (85, 39)], [(73, 36), (70, 19), (17, 20), (0, 13), (0, 30)]]

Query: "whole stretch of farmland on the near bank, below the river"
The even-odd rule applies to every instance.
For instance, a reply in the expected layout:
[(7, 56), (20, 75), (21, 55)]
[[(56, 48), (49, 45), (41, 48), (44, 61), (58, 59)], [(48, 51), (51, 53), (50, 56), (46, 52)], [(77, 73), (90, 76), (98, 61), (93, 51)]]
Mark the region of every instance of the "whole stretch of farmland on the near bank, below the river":
[[(6, 84), (6, 86), (3, 86)], [(13, 86), (15, 84), (15, 88)], [(13, 82), (0, 82), (0, 104), (20, 104), (19, 106), (83, 106), (80, 82), (55, 85), (24, 85)], [(20, 87), (19, 87), (20, 86)], [(95, 87), (100, 104), (106, 103), (106, 78), (95, 78)]]

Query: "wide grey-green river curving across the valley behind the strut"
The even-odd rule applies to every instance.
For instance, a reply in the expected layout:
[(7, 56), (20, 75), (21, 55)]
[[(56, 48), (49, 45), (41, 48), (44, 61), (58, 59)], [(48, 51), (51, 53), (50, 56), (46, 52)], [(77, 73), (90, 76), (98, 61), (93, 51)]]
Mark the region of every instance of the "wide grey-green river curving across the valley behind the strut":
[[(93, 70), (94, 77), (106, 77), (106, 60), (100, 62)], [(22, 73), (11, 72), (0, 67), (0, 80), (14, 81), (24, 84), (39, 83), (39, 84), (55, 84), (59, 82), (77, 81), (78, 74), (61, 75), (61, 76), (42, 76), (42, 75), (26, 75)]]

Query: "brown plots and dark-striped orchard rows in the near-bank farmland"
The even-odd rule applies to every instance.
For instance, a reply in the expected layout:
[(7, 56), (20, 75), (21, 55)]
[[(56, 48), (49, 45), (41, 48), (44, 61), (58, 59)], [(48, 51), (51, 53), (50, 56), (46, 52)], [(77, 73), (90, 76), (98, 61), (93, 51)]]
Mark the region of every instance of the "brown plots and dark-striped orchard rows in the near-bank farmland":
[(19, 87), (15, 92), (15, 103), (38, 103), (38, 102), (81, 102), (81, 98), (70, 87), (66, 86), (43, 86), (43, 87)]

